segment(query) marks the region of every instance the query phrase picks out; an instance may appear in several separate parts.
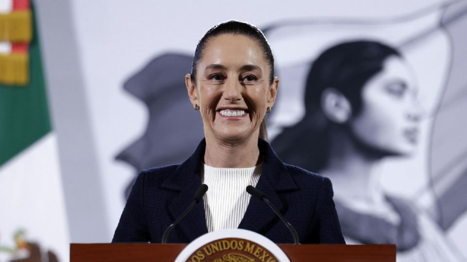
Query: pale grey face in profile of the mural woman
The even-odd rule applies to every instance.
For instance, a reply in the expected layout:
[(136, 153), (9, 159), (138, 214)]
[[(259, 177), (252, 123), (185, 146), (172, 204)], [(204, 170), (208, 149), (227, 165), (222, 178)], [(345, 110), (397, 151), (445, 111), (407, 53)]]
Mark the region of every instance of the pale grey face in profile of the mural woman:
[(361, 112), (350, 122), (354, 135), (388, 155), (413, 153), (421, 114), (416, 92), (410, 68), (401, 58), (388, 57), (362, 89)]

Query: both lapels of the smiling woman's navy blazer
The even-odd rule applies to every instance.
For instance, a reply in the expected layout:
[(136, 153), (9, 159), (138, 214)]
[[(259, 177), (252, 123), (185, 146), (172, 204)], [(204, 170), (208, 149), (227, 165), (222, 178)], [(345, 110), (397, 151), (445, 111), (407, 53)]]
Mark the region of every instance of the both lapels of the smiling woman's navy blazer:
[[(196, 190), (201, 185), (200, 170), (205, 148), (206, 140), (203, 139), (195, 152), (162, 183), (162, 188), (179, 192), (169, 203), (169, 212), (174, 219), (192, 202)], [(287, 206), (282, 203), (278, 193), (297, 190), (298, 186), (268, 142), (259, 139), (258, 148), (264, 156), (264, 160), (263, 171), (256, 188), (263, 192), (281, 213), (285, 213)], [(261, 233), (265, 226), (274, 219), (278, 220), (279, 218), (276, 217), (266, 203), (251, 197), (239, 228)], [(179, 226), (190, 240), (207, 233), (204, 205), (198, 203), (187, 217), (180, 221)]]

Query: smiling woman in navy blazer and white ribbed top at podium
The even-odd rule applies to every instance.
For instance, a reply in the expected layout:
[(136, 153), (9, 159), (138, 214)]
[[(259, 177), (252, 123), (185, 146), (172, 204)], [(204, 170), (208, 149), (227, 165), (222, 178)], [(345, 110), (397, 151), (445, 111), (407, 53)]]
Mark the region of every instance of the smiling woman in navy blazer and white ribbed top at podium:
[(264, 118), (274, 105), (279, 78), (263, 33), (235, 20), (216, 25), (199, 41), (185, 83), (205, 139), (182, 164), (141, 171), (112, 242), (161, 242), (163, 230), (204, 183), (209, 187), (204, 205), (180, 221), (169, 242), (240, 228), (292, 243), (272, 210), (250, 199), (245, 189), (251, 185), (292, 224), (301, 243), (344, 243), (330, 180), (282, 163), (265, 141)]

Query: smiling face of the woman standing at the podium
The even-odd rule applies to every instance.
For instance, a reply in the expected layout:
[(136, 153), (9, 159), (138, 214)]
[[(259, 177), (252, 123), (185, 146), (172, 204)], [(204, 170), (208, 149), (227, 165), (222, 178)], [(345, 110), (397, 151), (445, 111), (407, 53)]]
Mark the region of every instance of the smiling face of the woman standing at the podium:
[(197, 66), (196, 85), (187, 75), (188, 93), (200, 107), (206, 137), (257, 138), (278, 82), (269, 84), (269, 65), (248, 36), (221, 34), (210, 39)]

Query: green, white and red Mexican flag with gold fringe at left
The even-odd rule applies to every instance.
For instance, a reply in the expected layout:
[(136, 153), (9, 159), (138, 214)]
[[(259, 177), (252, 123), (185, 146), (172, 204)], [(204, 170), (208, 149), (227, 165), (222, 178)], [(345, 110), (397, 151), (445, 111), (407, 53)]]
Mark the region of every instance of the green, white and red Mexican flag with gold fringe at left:
[[(68, 259), (56, 136), (29, 0), (0, 0), (0, 261)], [(20, 233), (18, 233), (20, 232)], [(37, 254), (36, 254), (37, 255)], [(50, 261), (53, 261), (52, 257)]]

